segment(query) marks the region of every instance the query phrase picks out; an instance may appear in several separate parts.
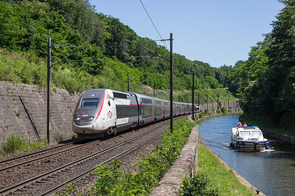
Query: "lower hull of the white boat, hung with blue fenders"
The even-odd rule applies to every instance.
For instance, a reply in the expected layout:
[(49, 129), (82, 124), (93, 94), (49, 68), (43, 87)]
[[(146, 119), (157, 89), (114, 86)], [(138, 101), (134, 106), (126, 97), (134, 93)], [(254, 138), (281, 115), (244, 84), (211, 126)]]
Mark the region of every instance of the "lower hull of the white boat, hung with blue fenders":
[[(255, 142), (255, 144), (254, 144)], [(256, 144), (256, 143), (259, 144)], [(243, 140), (235, 140), (232, 138), (232, 146), (236, 149), (237, 146), (240, 147), (240, 150), (245, 150), (245, 151), (260, 151), (260, 150), (265, 150), (265, 141), (243, 141)], [(238, 143), (238, 144), (237, 144)], [(241, 143), (244, 143), (244, 145), (241, 145)]]

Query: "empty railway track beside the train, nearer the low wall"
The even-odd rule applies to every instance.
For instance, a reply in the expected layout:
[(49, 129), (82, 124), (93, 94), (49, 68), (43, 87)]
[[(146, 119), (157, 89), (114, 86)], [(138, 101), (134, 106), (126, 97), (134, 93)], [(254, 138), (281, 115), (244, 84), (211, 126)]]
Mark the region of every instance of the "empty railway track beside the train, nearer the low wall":
[[(108, 163), (113, 158), (122, 156), (132, 151), (133, 149), (138, 148), (140, 145), (143, 145), (149, 140), (152, 140), (153, 138), (161, 134), (163, 130), (168, 129), (163, 127), (165, 125), (168, 126), (167, 124), (169, 123), (170, 122), (165, 123), (149, 131), (146, 131), (140, 135), (137, 135), (133, 138), (130, 138), (123, 142), (117, 143), (113, 146), (110, 146), (104, 150), (100, 150), (96, 153), (87, 155), (81, 159), (75, 160), (66, 165), (60, 166), (48, 172), (42, 173), (38, 176), (32, 177), (30, 179), (24, 180), (22, 182), (19, 182), (17, 184), (4, 188), (0, 190), (0, 195), (7, 195), (7, 194), (8, 195), (19, 195), (19, 194), (24, 195), (25, 193), (34, 193), (34, 192), (40, 193), (40, 192), (43, 192), (42, 190), (46, 190), (48, 187), (52, 187), (52, 188), (50, 190), (43, 192), (41, 195), (47, 195), (52, 192), (55, 192), (56, 190), (63, 187), (66, 183), (74, 182), (87, 175), (90, 175), (93, 172), (93, 170), (97, 167), (97, 163), (100, 163), (100, 164)], [(151, 135), (153, 132), (155, 132), (155, 130), (159, 130), (159, 129), (160, 131), (157, 131), (156, 134)], [(142, 139), (142, 137), (143, 138), (148, 137), (148, 139)], [(87, 143), (86, 145), (91, 145), (91, 144)], [(79, 146), (78, 148), (82, 148), (82, 147)], [(72, 150), (68, 149), (65, 151), (72, 151)], [(117, 152), (119, 152), (119, 154)], [(63, 152), (63, 153), (66, 153), (66, 152)], [(71, 176), (72, 178), (68, 179), (69, 176)], [(60, 182), (63, 182), (63, 183), (60, 183)], [(30, 194), (30, 195), (39, 195), (39, 194)]]

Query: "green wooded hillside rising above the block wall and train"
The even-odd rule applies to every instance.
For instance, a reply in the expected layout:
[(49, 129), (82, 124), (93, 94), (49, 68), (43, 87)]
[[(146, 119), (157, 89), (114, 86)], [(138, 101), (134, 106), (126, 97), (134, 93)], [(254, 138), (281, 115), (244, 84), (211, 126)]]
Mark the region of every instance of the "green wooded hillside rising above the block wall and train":
[[(52, 68), (53, 89), (64, 88), (72, 93), (91, 88), (127, 91), (127, 75), (147, 80), (144, 86), (163, 91), (170, 88), (169, 62), (158, 57), (138, 57), (154, 54), (132, 41), (151, 39), (137, 36), (119, 19), (97, 13), (89, 0), (0, 1), (0, 26), (0, 47), (3, 48), (0, 54), (1, 81), (46, 86), (47, 37), (51, 37), (52, 46), (87, 45), (66, 60), (103, 60), (58, 63)], [(164, 46), (155, 42), (141, 44), (170, 58)], [(51, 62), (59, 61), (76, 50), (76, 47), (51, 47)], [(191, 61), (180, 54), (173, 54), (173, 61), (174, 77), (185, 84), (175, 87), (176, 100), (184, 101), (183, 94), (191, 93), (186, 89), (191, 89), (192, 71), (196, 73), (196, 92), (204, 94), (205, 90), (221, 87), (221, 90), (209, 93), (209, 99), (219, 96), (234, 100), (230, 91), (235, 92), (236, 86), (227, 78), (231, 66), (212, 68), (208, 63)], [(174, 81), (175, 85), (182, 85), (177, 81)], [(130, 87), (138, 83), (138, 80), (130, 80)], [(142, 87), (132, 91), (147, 93)], [(169, 93), (162, 96), (168, 98)], [(191, 99), (189, 94), (187, 97)]]

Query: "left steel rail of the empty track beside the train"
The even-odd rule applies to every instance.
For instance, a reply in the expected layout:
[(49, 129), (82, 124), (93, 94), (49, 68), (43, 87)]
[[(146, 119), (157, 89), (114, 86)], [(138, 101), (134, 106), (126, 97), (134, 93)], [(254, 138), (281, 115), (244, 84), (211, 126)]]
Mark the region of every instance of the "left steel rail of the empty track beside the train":
[[(175, 120), (177, 120), (177, 119), (175, 119)], [(168, 122), (168, 123), (170, 123), (170, 122)], [(128, 139), (128, 140), (125, 140), (125, 141), (122, 141), (122, 142), (120, 142), (120, 143), (117, 143), (117, 144), (115, 144), (115, 145), (113, 145), (113, 146), (110, 146), (110, 147), (108, 147), (108, 148), (105, 148), (105, 149), (103, 149), (103, 150), (100, 150), (100, 151), (98, 151), (98, 152), (96, 152), (96, 153), (93, 153), (93, 154), (91, 154), (91, 155), (88, 155), (88, 156), (86, 156), (86, 157), (83, 157), (83, 158), (81, 158), (81, 159), (79, 159), (79, 160), (76, 160), (76, 161), (73, 161), (73, 162), (68, 163), (68, 164), (66, 164), (66, 165), (63, 165), (63, 166), (61, 166), (61, 167), (55, 168), (55, 169), (53, 169), (53, 170), (50, 170), (50, 171), (45, 172), (45, 173), (43, 173), (43, 174), (40, 174), (40, 175), (38, 175), (38, 176), (32, 177), (32, 178), (30, 178), (30, 179), (28, 179), (28, 180), (25, 180), (25, 181), (23, 181), (23, 182), (19, 182), (19, 183), (17, 183), (17, 184), (12, 185), (12, 186), (6, 187), (5, 189), (0, 190), (0, 195), (6, 195), (6, 194), (8, 194), (9, 192), (12, 192), (12, 191), (18, 190), (19, 188), (24, 187), (24, 186), (26, 186), (26, 185), (30, 185), (32, 182), (35, 182), (35, 181), (41, 180), (41, 179), (43, 179), (44, 177), (48, 177), (48, 176), (50, 176), (50, 175), (52, 175), (52, 174), (54, 174), (54, 173), (56, 173), (56, 172), (63, 171), (64, 169), (66, 169), (66, 168), (68, 168), (68, 167), (72, 167), (72, 166), (74, 166), (74, 165), (77, 165), (78, 163), (81, 163), (81, 162), (83, 162), (83, 161), (85, 161), (85, 160), (88, 160), (88, 159), (90, 159), (90, 158), (92, 158), (92, 157), (95, 157), (95, 156), (97, 156), (97, 155), (99, 155), (99, 154), (105, 153), (105, 152), (107, 152), (107, 151), (109, 151), (109, 150), (111, 150), (111, 149), (113, 149), (113, 148), (116, 148), (116, 147), (118, 147), (118, 146), (120, 146), (120, 145), (122, 145), (122, 144), (124, 144), (124, 143), (130, 142), (131, 140), (134, 140), (134, 139), (136, 139), (136, 138), (139, 138), (139, 137), (141, 137), (141, 136), (143, 136), (143, 135), (145, 135), (145, 134), (147, 134), (147, 133), (150, 133), (150, 132), (153, 131), (153, 130), (156, 130), (156, 129), (158, 129), (158, 128), (161, 128), (161, 127), (163, 127), (164, 125), (167, 125), (168, 123), (165, 123), (165, 124), (163, 124), (163, 125), (160, 125), (160, 126), (158, 126), (158, 127), (156, 127), (156, 128), (153, 128), (153, 129), (151, 129), (151, 130), (148, 130), (148, 131), (146, 131), (146, 132), (144, 132), (144, 133), (141, 133), (141, 134), (139, 134), (139, 135), (137, 135), (137, 136), (135, 136), (135, 137), (132, 137), (132, 138), (130, 138), (130, 139)], [(160, 132), (160, 133), (162, 133), (162, 132)], [(64, 183), (63, 183), (63, 185), (64, 185)]]

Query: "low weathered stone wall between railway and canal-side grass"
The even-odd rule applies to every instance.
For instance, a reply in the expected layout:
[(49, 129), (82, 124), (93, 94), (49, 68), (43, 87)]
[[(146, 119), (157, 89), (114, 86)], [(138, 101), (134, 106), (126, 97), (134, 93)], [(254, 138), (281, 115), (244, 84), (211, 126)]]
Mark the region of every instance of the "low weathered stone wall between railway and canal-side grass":
[[(191, 118), (189, 118), (191, 120)], [(191, 120), (194, 122), (193, 120)], [(166, 172), (159, 186), (155, 187), (150, 196), (179, 195), (182, 178), (196, 173), (198, 163), (198, 138), (199, 127), (196, 125), (191, 130), (188, 141), (181, 150), (181, 154)]]

